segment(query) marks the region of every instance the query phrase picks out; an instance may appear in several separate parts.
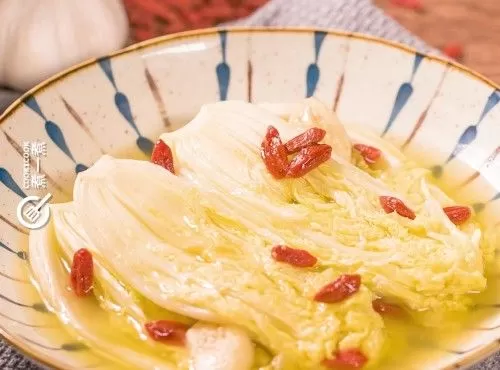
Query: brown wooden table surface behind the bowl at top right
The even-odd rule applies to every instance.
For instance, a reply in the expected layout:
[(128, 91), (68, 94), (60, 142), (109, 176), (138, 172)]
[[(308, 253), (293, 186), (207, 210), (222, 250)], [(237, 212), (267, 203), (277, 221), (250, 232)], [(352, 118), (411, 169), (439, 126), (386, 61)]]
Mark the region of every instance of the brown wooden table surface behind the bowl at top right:
[(424, 11), (374, 0), (427, 43), (464, 46), (462, 63), (500, 84), (500, 0), (421, 0)]

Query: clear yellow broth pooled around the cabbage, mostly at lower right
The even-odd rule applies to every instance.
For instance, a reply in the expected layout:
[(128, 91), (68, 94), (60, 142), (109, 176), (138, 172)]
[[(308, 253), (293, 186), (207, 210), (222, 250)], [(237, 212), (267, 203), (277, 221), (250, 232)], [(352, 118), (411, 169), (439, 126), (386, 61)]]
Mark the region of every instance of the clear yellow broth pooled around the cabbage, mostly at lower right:
[[(470, 199), (470, 194), (464, 195), (463, 192), (456, 191), (448, 182), (436, 181), (436, 184), (441, 189), (447, 190), (447, 194), (451, 195), (457, 204), (460, 204), (462, 200)], [(482, 220), (482, 226), (486, 227), (484, 220)], [(58, 248), (57, 245), (54, 247)], [(495, 258), (497, 259), (495, 265), (500, 265), (498, 256)], [(65, 263), (67, 264), (67, 261)], [(436, 368), (435, 361), (438, 359), (473, 350), (475, 344), (471, 338), (500, 326), (500, 315), (498, 315), (500, 313), (500, 271), (496, 269), (488, 271), (487, 277), (487, 289), (481, 293), (471, 293), (474, 304), (465, 312), (450, 312), (441, 317), (432, 316), (432, 321), (427, 321), (428, 326), (418, 323), (426, 321), (427, 313), (410, 313), (400, 318), (385, 316), (387, 341), (384, 355), (382, 360), (373, 364), (371, 368), (381, 370), (434, 369)], [(98, 314), (99, 306), (95, 299), (94, 305), (94, 309), (89, 310), (89, 315), (95, 315), (95, 324), (109, 326), (110, 332), (116, 332), (117, 341), (127, 340), (125, 337), (131, 333), (123, 332), (119, 323), (107, 321), (106, 317), (109, 318), (109, 316)], [(412, 315), (418, 317), (418, 320), (412, 319)], [(490, 320), (494, 315), (498, 315), (496, 322)], [(54, 333), (51, 334), (53, 335)], [(78, 340), (77, 337), (76, 340)], [(271, 356), (260, 348), (256, 357), (257, 367), (264, 365)], [(124, 368), (123, 364), (117, 365), (104, 358), (100, 363), (106, 364), (106, 368), (110, 369)]]

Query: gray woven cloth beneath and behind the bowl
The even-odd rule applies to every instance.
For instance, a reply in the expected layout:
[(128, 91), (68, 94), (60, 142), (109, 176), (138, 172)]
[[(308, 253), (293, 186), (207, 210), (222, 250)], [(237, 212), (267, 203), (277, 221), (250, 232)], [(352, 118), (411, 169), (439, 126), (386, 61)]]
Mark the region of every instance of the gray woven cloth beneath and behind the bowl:
[[(370, 0), (272, 0), (250, 17), (228, 23), (241, 26), (316, 26), (368, 33), (439, 54), (412, 35)], [(0, 90), (0, 111), (19, 93)], [(39, 370), (33, 362), (0, 340), (0, 368)], [(472, 370), (500, 369), (500, 354)]]

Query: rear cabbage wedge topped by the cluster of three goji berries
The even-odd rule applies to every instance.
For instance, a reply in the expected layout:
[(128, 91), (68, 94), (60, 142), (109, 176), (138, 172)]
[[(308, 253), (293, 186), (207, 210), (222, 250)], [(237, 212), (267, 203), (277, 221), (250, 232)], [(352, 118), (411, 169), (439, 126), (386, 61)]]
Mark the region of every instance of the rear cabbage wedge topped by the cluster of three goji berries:
[[(171, 147), (180, 177), (200, 191), (224, 195), (217, 211), (227, 219), (306, 249), (324, 267), (362, 274), (377, 294), (411, 309), (465, 308), (467, 293), (486, 285), (478, 225), (455, 226), (442, 210), (453, 202), (428, 183), (428, 171), (381, 139), (367, 135), (365, 143), (376, 143), (392, 164), (389, 169), (373, 176), (352, 164), (347, 146), (340, 144), (349, 140), (347, 134), (318, 104), (306, 100), (302, 115), (286, 110), (297, 112), (304, 103), (210, 104), (161, 139)], [(326, 129), (332, 159), (300, 179), (274, 179), (260, 153), (269, 125), (283, 142), (310, 127)], [(359, 131), (353, 136), (363, 139)], [(386, 214), (380, 196), (401, 199), (416, 219)]]

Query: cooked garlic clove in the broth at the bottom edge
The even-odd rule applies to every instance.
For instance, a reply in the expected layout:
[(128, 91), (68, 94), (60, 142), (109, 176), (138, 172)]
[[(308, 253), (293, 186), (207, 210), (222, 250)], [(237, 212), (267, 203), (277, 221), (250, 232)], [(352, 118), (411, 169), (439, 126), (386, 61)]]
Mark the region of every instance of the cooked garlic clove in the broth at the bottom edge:
[(190, 370), (250, 370), (254, 346), (241, 329), (198, 323), (186, 334)]

